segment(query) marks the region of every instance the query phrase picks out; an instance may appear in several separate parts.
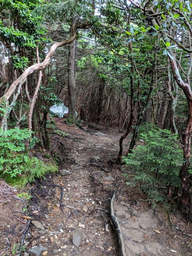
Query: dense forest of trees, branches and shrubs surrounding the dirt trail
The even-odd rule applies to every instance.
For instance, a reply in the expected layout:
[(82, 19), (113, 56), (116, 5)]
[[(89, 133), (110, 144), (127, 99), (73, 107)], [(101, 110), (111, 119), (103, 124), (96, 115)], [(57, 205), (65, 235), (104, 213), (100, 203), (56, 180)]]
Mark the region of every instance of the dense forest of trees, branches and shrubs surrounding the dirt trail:
[(0, 172), (41, 164), (30, 148), (49, 149), (49, 108), (63, 102), (69, 124), (123, 132), (118, 164), (131, 132), (125, 162), (137, 180), (150, 172), (168, 198), (181, 193), (190, 218), (191, 9), (190, 0), (0, 0)]

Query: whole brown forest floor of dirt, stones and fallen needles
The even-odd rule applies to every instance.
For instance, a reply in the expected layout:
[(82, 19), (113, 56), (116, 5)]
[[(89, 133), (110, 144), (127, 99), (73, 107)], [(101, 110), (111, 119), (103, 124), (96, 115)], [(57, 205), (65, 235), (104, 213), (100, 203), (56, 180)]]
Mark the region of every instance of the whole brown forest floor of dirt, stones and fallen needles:
[[(64, 176), (61, 173), (48, 175), (46, 180), (41, 180), (44, 184), (38, 180), (32, 187), (27, 215), (37, 222), (31, 221), (24, 241), (27, 250), (22, 255), (119, 256), (119, 239), (110, 220), (110, 202), (115, 190), (113, 209), (122, 230), (127, 256), (192, 255), (192, 225), (187, 225), (179, 215), (168, 216), (162, 205), (154, 210), (145, 201), (145, 195), (125, 184), (122, 173), (132, 173), (115, 164), (120, 137), (115, 128), (105, 131), (102, 125), (88, 123), (83, 126), (86, 130), (83, 131), (66, 125), (61, 118), (55, 118), (55, 123), (58, 130), (68, 134), (61, 136), (50, 131), (51, 154), (60, 157), (59, 169)], [(124, 145), (129, 141), (130, 137), (124, 140)], [(69, 171), (67, 175), (65, 170)], [(64, 211), (59, 205), (61, 189), (48, 186), (51, 184), (63, 188)], [(10, 207), (15, 208), (11, 204)], [(14, 210), (12, 214), (8, 212), (9, 218), (15, 214)], [(0, 247), (0, 255), (14, 255), (12, 250), (6, 250), (9, 247), (6, 237), (9, 244), (21, 240), (23, 226), (30, 221), (23, 219), (21, 222), (21, 216), (16, 216), (15, 223), (12, 219), (9, 225), (4, 218), (6, 232), (3, 233), (4, 247)], [(74, 230), (83, 236), (78, 233), (79, 247), (70, 239)], [(0, 239), (0, 243), (2, 241)], [(33, 252), (34, 248), (36, 252)]]

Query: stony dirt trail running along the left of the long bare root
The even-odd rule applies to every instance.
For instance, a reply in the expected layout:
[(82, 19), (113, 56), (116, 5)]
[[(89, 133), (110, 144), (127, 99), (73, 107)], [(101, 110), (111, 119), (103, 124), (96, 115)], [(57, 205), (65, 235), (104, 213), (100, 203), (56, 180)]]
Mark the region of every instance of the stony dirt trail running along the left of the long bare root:
[[(62, 203), (66, 207), (62, 212), (60, 188), (39, 183), (30, 207), (32, 212), (38, 211), (35, 218), (43, 227), (32, 221), (27, 246), (36, 246), (35, 250), (39, 251), (32, 248), (28, 253), (35, 256), (41, 253), (47, 256), (117, 256), (119, 245), (110, 223), (109, 209), (116, 188), (114, 180), (119, 176), (119, 169), (112, 172), (111, 165), (118, 150), (118, 136), (114, 138), (110, 131), (85, 133), (64, 125), (62, 119), (57, 120), (57, 125), (68, 133), (69, 138), (62, 138), (59, 143), (64, 145), (63, 153), (68, 160), (61, 164), (60, 174), (50, 175), (43, 182), (62, 186)], [(58, 147), (60, 138), (52, 139), (55, 141), (52, 147)]]

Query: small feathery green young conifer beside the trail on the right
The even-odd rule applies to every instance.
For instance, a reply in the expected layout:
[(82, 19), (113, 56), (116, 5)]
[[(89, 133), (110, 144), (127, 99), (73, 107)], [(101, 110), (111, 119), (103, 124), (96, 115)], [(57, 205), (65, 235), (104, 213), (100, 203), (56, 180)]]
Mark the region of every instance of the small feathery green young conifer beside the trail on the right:
[(127, 166), (134, 169), (134, 177), (127, 184), (136, 186), (154, 202), (164, 202), (166, 196), (162, 187), (180, 187), (180, 165), (183, 151), (179, 147), (177, 135), (160, 128), (147, 129), (140, 134), (144, 145), (137, 145), (132, 154), (124, 157)]

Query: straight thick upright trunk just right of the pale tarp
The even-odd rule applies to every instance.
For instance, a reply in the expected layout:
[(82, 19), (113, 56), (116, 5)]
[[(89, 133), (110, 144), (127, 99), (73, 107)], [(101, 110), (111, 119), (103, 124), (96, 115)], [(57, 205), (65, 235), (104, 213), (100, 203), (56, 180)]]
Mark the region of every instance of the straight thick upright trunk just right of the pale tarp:
[(76, 122), (76, 39), (69, 45), (68, 60), (68, 101), (69, 121)]

